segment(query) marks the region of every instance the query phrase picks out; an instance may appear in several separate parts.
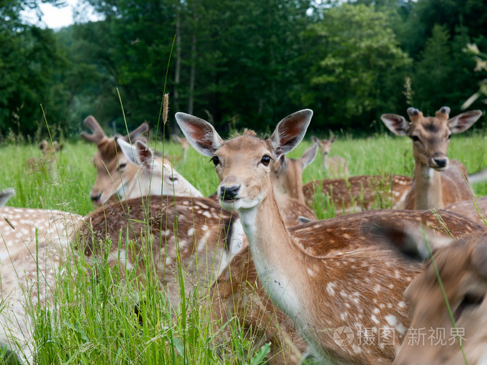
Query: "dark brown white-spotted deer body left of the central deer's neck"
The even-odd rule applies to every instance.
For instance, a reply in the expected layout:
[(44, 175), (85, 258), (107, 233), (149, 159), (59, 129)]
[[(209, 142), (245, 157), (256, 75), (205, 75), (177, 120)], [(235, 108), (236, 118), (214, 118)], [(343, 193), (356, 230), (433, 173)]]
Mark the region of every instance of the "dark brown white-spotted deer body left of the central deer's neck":
[[(86, 257), (106, 254), (111, 264), (136, 268), (141, 279), (146, 268), (155, 270), (173, 307), (181, 299), (179, 266), (185, 295), (204, 292), (244, 241), (237, 213), (206, 197), (173, 195), (104, 204), (83, 218), (74, 236)], [(107, 237), (110, 252), (104, 252)]]

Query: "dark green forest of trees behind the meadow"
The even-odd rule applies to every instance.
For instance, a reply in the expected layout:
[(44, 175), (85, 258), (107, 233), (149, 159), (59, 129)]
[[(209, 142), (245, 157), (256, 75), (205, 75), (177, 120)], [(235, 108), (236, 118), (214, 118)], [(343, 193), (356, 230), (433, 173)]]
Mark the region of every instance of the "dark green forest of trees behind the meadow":
[(54, 31), (20, 16), (35, 0), (0, 0), (0, 138), (78, 138), (87, 115), (161, 133), (164, 92), (223, 134), (311, 108), (312, 133), (368, 136), (408, 106), (461, 113), (485, 78), (465, 49), (487, 49), (486, 1), (87, 2), (104, 20)]

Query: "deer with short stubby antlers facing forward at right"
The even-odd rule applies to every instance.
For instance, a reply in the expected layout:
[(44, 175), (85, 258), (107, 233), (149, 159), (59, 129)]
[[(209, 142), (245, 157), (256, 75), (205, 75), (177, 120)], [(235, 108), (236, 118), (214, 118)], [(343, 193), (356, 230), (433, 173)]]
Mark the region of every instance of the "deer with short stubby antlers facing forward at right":
[(466, 170), (460, 163), (449, 163), (447, 148), (452, 134), (470, 128), (482, 113), (467, 111), (450, 118), (449, 112), (443, 106), (434, 117), (424, 117), (417, 109), (408, 108), (410, 122), (397, 114), (381, 115), (392, 133), (413, 140), (415, 169), (406, 209), (442, 208), (471, 197)]

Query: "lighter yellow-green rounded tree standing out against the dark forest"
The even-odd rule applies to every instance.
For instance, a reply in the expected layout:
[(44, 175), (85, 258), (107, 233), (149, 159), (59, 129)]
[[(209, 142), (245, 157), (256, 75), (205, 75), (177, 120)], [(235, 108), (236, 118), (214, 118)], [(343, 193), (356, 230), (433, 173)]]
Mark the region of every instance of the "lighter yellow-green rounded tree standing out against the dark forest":
[(305, 97), (322, 105), (328, 127), (357, 128), (354, 119), (359, 115), (365, 127), (385, 105), (381, 99), (401, 98), (397, 86), (384, 89), (385, 80), (392, 78), (402, 85), (404, 79), (397, 76), (404, 75), (410, 59), (399, 48), (385, 13), (374, 6), (345, 4), (324, 10), (322, 16), (308, 33), (317, 42), (321, 60), (310, 69), (314, 89)]

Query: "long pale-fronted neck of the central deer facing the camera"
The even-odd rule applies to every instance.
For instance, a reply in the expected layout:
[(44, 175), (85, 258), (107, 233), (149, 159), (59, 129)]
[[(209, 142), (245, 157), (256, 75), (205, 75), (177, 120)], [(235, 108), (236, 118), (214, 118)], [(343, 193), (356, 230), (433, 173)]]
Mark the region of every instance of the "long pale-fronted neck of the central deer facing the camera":
[(280, 216), (270, 179), (268, 191), (257, 206), (239, 209), (239, 217), (266, 292), (288, 316), (296, 316), (301, 308), (303, 256)]

